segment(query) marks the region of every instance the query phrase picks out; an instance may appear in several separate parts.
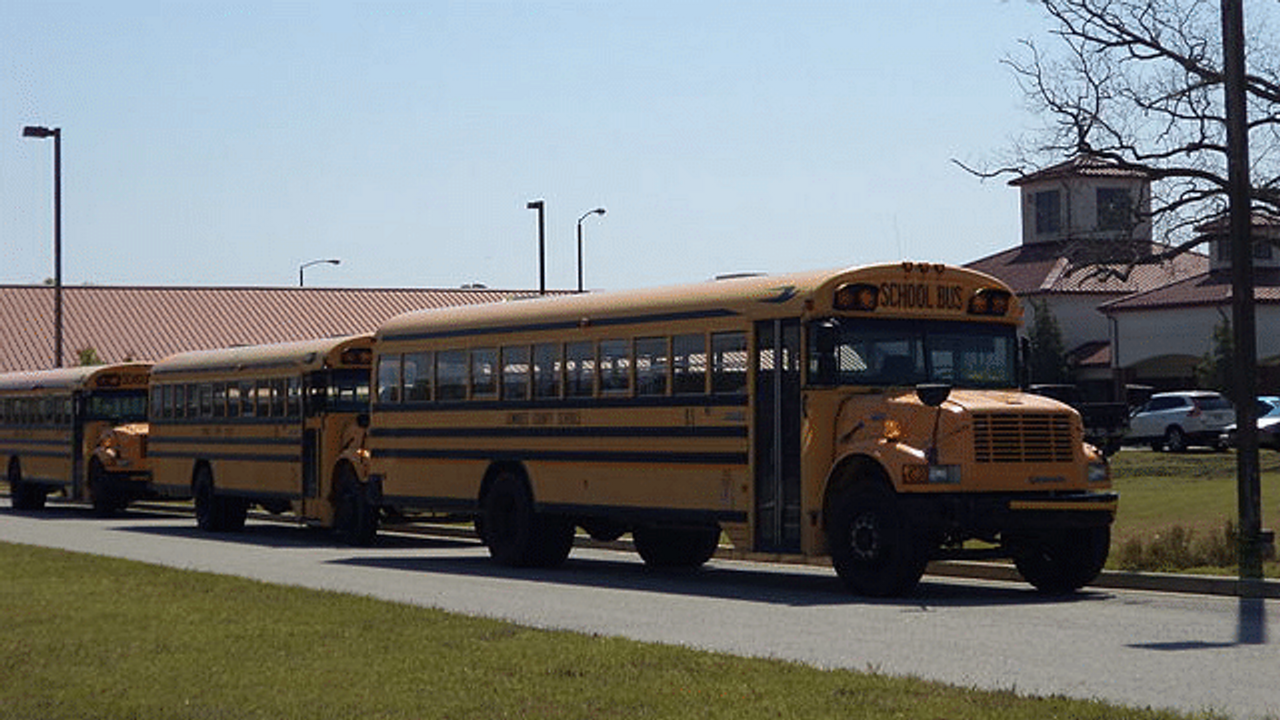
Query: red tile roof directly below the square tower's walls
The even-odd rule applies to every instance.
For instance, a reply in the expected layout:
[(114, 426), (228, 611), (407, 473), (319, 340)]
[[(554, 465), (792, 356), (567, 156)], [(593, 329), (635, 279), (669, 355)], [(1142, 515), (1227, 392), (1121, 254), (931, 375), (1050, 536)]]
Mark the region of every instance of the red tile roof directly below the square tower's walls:
[[(1129, 277), (1097, 277), (1088, 269), (1068, 273), (1069, 261), (1064, 256), (1065, 242), (1043, 242), (1023, 245), (1004, 252), (989, 255), (965, 264), (966, 268), (992, 274), (1019, 295), (1036, 293), (1091, 293), (1128, 295), (1146, 292), (1171, 282), (1208, 272), (1208, 256), (1199, 252), (1183, 252), (1165, 263), (1135, 265)], [(1151, 252), (1162, 252), (1167, 247), (1151, 245)], [(1120, 265), (1114, 268), (1123, 269)]]

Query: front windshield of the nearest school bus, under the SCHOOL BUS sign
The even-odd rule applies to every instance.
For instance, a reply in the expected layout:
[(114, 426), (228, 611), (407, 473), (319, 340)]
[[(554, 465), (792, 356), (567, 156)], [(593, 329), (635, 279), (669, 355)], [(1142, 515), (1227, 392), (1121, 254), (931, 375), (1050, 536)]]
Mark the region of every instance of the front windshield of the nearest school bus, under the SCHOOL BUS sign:
[(809, 332), (813, 384), (1018, 386), (1011, 325), (829, 318), (812, 323)]

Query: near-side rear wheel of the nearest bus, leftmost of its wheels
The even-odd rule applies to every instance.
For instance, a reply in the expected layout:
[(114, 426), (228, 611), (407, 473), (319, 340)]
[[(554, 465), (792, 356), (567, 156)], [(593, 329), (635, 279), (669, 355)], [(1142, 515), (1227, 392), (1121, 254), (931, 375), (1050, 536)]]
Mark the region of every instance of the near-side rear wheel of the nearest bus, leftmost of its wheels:
[(499, 470), (481, 502), (480, 528), (489, 555), (511, 568), (561, 565), (573, 547), (573, 524), (534, 510), (532, 493), (515, 470)]

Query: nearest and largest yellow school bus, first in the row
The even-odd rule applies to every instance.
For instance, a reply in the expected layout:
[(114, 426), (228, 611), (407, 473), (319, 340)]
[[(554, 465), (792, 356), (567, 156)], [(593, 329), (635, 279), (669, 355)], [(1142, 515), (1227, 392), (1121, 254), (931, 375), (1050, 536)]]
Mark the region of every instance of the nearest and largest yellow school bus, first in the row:
[(1079, 415), (1019, 392), (1020, 318), (914, 263), (404, 314), (375, 336), (367, 493), (474, 515), (509, 565), (580, 527), (694, 566), (723, 533), (864, 594), (974, 556), (1074, 591), (1116, 496)]

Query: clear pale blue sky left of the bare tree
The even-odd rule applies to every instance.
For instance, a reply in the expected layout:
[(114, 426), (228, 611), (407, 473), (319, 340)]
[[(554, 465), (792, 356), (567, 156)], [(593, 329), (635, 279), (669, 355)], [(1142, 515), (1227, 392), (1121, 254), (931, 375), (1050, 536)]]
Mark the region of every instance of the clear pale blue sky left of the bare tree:
[(550, 287), (1018, 237), (1025, 0), (0, 4), (0, 283)]

